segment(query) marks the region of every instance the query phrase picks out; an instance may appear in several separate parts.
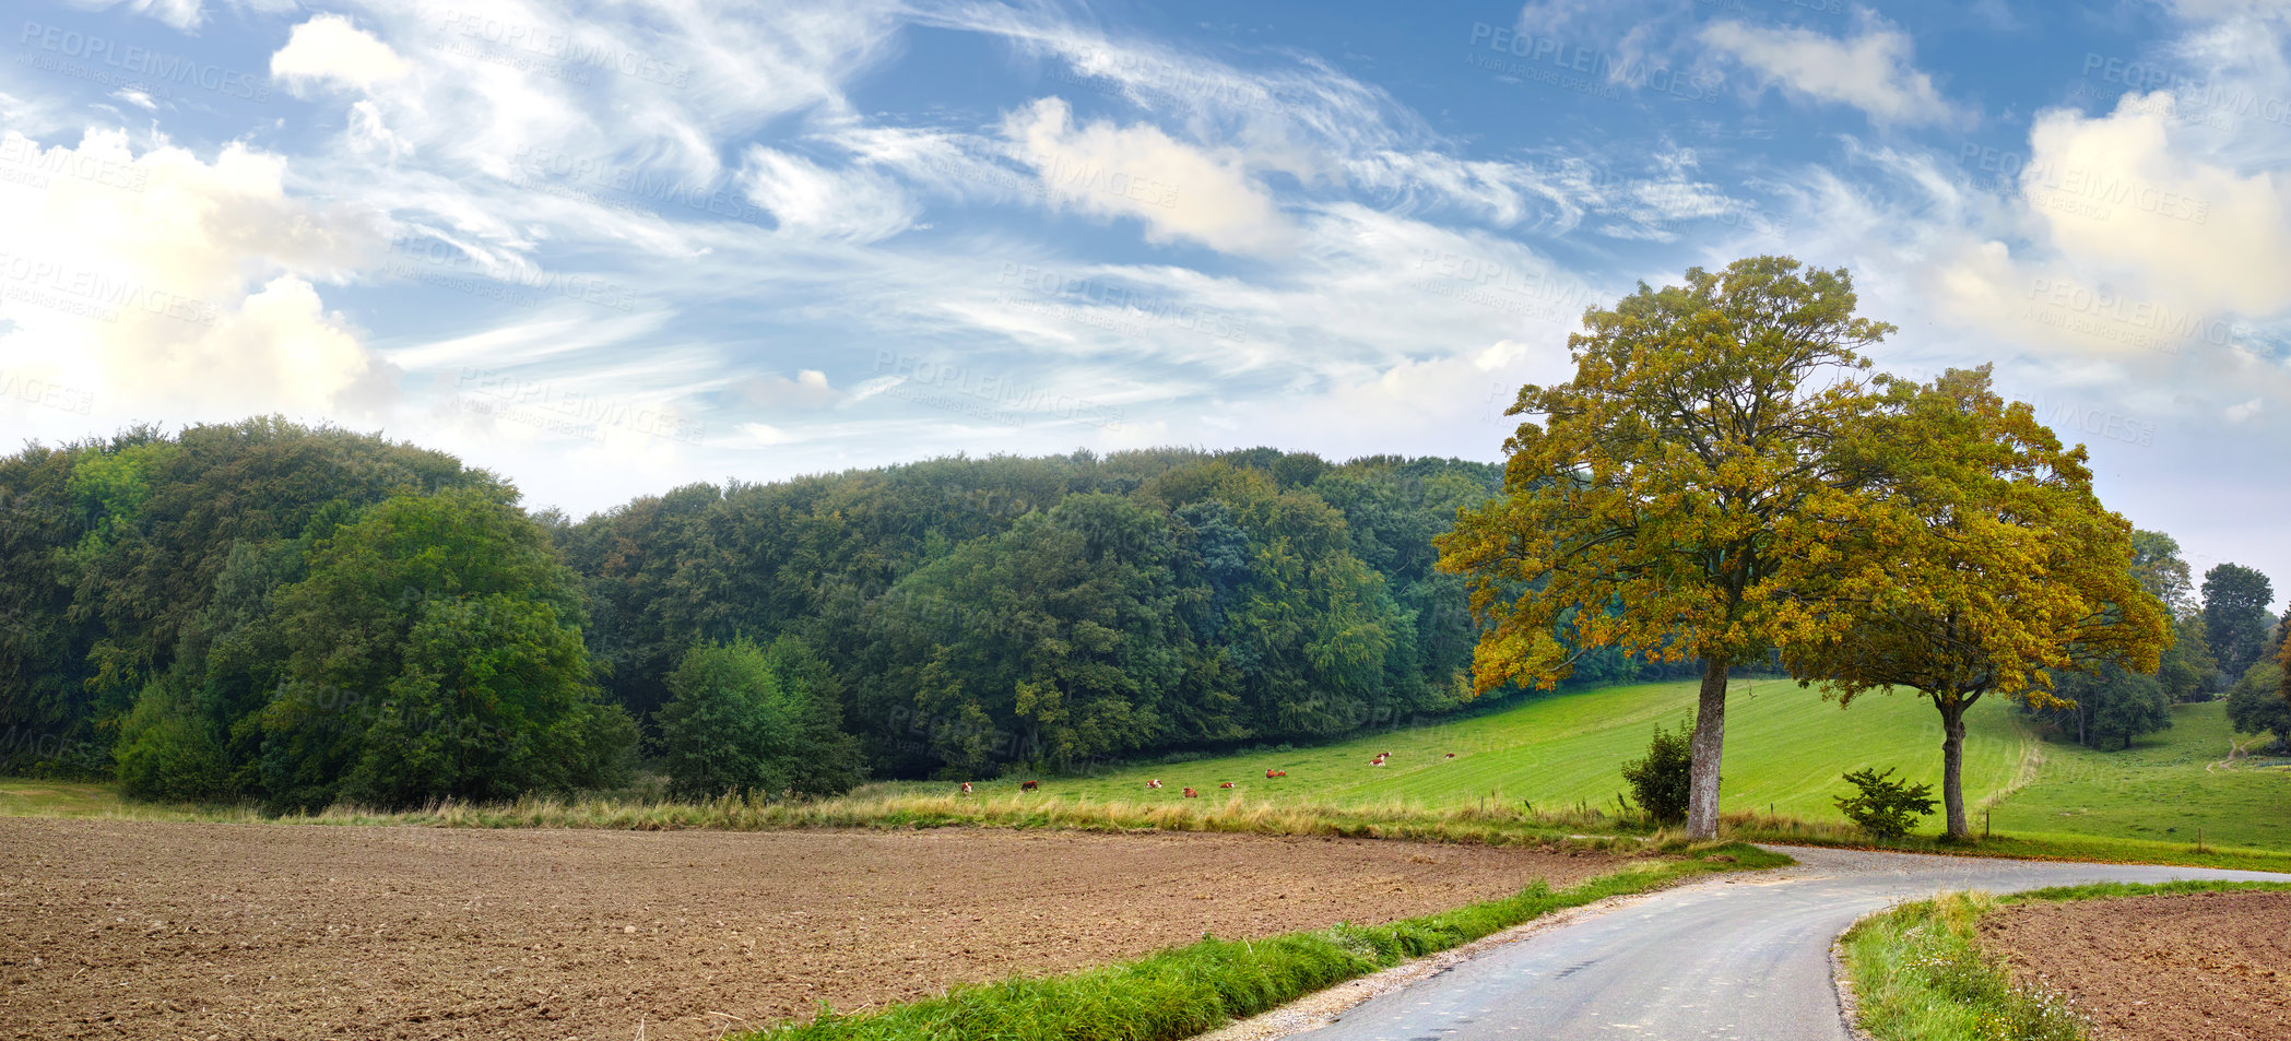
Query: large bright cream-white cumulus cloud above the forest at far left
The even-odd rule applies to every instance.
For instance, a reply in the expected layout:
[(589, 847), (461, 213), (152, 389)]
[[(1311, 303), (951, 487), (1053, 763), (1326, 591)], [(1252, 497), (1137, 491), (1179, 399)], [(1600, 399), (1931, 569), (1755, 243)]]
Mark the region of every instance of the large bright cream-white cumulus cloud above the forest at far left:
[(55, 170), (0, 186), (11, 369), (103, 388), (117, 417), (330, 415), (380, 369), (314, 282), (378, 248), (371, 222), (284, 190), (286, 161), (243, 144), (213, 161), (11, 140)]

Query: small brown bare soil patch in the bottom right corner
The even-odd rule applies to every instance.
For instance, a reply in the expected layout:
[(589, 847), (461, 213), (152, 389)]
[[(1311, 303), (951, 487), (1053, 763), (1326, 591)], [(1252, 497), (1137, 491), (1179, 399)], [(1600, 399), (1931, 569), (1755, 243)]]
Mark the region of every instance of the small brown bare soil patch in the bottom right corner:
[(2291, 1039), (2291, 892), (2030, 901), (1982, 919), (2014, 979), (2105, 1041)]

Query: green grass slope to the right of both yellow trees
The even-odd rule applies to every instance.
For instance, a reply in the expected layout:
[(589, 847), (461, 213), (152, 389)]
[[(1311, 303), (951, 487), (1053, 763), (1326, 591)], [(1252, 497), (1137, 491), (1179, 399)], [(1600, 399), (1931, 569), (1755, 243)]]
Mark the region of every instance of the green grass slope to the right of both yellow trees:
[[(2243, 734), (2234, 741), (2252, 745)], [(2037, 782), (1995, 807), (2014, 835), (2105, 835), (2211, 846), (2291, 848), (2291, 764), (2227, 759), (2227, 702), (2172, 709), (2172, 729), (2131, 750), (2041, 743)]]

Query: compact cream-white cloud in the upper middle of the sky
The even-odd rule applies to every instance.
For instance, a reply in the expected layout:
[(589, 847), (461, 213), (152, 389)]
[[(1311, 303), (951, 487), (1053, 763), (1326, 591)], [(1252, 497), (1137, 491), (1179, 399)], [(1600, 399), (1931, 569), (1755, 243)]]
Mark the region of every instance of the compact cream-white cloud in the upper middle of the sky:
[(1272, 193), (1251, 181), (1239, 149), (1200, 149), (1157, 126), (1074, 126), (1061, 99), (1038, 99), (1003, 117), (1003, 135), (1033, 165), (1056, 204), (1139, 218), (1146, 238), (1189, 238), (1223, 252), (1267, 252), (1290, 225)]

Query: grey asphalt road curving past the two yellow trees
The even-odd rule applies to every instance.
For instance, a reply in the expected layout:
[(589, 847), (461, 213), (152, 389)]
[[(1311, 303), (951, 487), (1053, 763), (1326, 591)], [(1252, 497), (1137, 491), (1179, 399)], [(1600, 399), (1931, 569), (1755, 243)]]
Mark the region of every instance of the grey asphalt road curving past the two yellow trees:
[(1831, 942), (1943, 890), (2172, 878), (2291, 880), (2202, 867), (2053, 864), (1782, 848), (1798, 867), (1716, 878), (1496, 947), (1361, 1002), (1297, 1041), (1849, 1041)]

